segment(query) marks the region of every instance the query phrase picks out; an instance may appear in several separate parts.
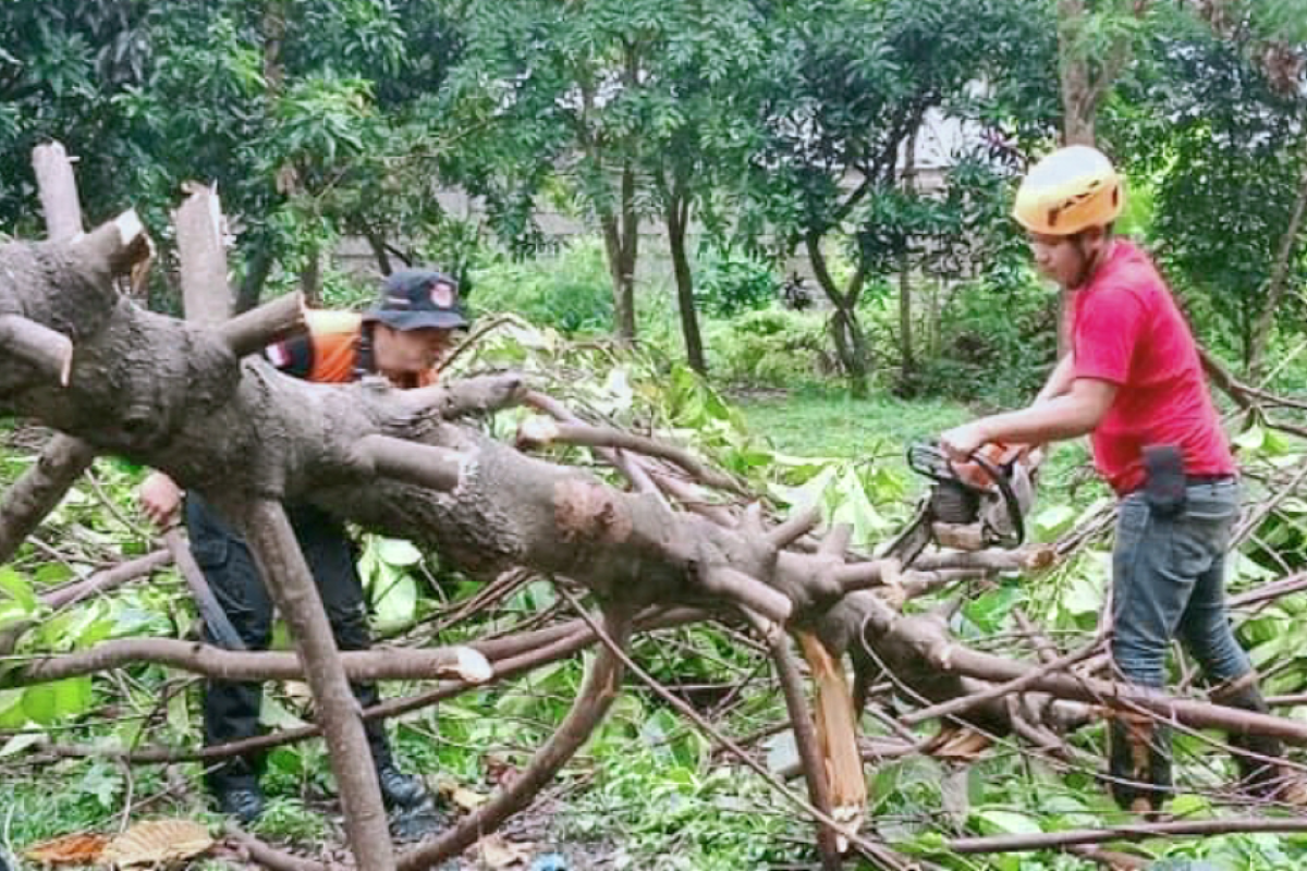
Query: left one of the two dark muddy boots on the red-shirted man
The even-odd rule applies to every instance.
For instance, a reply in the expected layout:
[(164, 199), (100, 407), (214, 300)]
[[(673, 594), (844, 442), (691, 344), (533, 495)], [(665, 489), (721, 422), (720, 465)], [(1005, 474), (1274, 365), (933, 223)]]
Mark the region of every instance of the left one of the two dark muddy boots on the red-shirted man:
[(1171, 794), (1171, 727), (1144, 714), (1108, 720), (1110, 789), (1117, 807), (1155, 816)]

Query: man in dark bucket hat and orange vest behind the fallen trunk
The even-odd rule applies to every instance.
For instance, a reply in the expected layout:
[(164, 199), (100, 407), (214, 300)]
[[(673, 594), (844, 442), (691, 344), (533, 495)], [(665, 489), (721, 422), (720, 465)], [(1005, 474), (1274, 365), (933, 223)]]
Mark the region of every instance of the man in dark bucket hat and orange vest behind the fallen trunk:
[[(361, 315), (310, 311), (306, 321), (305, 334), (264, 351), (268, 362), (307, 381), (342, 384), (376, 375), (399, 388), (430, 384), (433, 366), (448, 347), (451, 332), (468, 324), (459, 306), (457, 282), (421, 269), (389, 276), (380, 300)], [(182, 492), (167, 475), (156, 471), (141, 484), (140, 503), (150, 520), (167, 528), (178, 517)], [(341, 650), (366, 650), (371, 639), (354, 543), (340, 521), (312, 505), (286, 505), (286, 512), (318, 582), (336, 644)], [(186, 499), (186, 526), (195, 559), (244, 648), (268, 649), (273, 605), (244, 542), (197, 494)], [(204, 635), (208, 642), (221, 644), (216, 636), (223, 633), (207, 623)], [(371, 684), (356, 684), (354, 695), (365, 708), (379, 701)], [(261, 699), (263, 687), (257, 683), (208, 680), (205, 746), (256, 735)], [(365, 729), (387, 806), (405, 810), (421, 806), (427, 800), (426, 787), (395, 767), (382, 722), (367, 721)], [(250, 756), (226, 761), (205, 776), (223, 814), (244, 823), (259, 817), (264, 806), (260, 770), (261, 759)]]

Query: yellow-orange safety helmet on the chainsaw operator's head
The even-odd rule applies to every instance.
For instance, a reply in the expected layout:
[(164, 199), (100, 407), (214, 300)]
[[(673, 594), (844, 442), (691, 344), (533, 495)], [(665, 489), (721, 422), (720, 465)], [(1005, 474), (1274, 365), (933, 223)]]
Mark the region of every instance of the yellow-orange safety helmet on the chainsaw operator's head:
[(1125, 206), (1121, 179), (1102, 151), (1057, 149), (1026, 174), (1012, 217), (1030, 232), (1069, 236), (1116, 221)]

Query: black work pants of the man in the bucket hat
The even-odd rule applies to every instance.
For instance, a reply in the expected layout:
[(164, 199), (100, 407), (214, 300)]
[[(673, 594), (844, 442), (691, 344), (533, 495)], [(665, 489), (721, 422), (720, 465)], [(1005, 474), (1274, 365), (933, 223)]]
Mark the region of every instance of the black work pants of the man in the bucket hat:
[[(318, 584), (336, 645), (341, 650), (366, 650), (371, 639), (354, 543), (339, 521), (318, 508), (288, 505), (286, 513)], [(213, 507), (199, 496), (187, 498), (186, 525), (195, 560), (237, 635), (247, 649), (267, 650), (272, 639), (273, 603), (250, 548)], [(216, 644), (208, 626), (205, 640)], [(353, 684), (353, 688), (365, 708), (379, 701), (374, 684)], [(257, 735), (261, 703), (263, 686), (259, 683), (207, 680), (204, 744), (212, 747)], [(380, 767), (389, 763), (389, 746), (382, 721), (367, 721), (365, 731), (375, 764)], [(251, 787), (257, 784), (261, 768), (261, 753), (237, 757), (212, 770), (205, 782), (214, 791)]]

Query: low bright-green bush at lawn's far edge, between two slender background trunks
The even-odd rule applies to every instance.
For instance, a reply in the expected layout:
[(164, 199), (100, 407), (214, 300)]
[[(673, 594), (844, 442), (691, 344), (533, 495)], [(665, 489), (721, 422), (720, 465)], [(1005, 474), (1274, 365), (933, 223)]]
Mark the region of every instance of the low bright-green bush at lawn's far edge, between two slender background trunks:
[(729, 321), (708, 321), (706, 342), (714, 376), (749, 387), (793, 387), (835, 370), (826, 317), (779, 307)]

